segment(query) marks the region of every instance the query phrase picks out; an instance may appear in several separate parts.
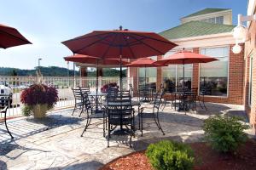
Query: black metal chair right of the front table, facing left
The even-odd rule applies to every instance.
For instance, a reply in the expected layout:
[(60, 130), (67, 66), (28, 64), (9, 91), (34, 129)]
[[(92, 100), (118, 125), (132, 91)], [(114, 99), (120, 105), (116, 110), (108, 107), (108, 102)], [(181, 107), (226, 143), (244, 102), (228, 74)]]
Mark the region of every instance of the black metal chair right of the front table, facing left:
[(160, 110), (160, 105), (162, 103), (162, 97), (163, 93), (159, 92), (157, 95), (155, 95), (154, 98), (154, 103), (153, 103), (153, 111), (152, 112), (144, 112), (144, 108), (141, 108), (139, 111), (139, 127), (143, 136), (143, 119), (145, 118), (154, 118), (154, 122), (156, 126), (159, 128), (159, 130), (165, 135), (162, 127), (160, 126), (160, 121), (159, 121), (159, 110)]

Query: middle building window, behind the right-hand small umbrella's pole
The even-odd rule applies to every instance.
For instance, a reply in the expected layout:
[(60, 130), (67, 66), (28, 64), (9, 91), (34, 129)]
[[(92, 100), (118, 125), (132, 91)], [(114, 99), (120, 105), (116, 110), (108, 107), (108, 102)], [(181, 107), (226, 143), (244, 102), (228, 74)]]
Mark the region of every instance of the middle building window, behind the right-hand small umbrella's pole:
[[(168, 52), (164, 57), (174, 54), (176, 51)], [(191, 88), (193, 65), (185, 65), (185, 88)], [(176, 88), (183, 85), (183, 65), (168, 65), (162, 67), (162, 77), (167, 93), (172, 93)]]

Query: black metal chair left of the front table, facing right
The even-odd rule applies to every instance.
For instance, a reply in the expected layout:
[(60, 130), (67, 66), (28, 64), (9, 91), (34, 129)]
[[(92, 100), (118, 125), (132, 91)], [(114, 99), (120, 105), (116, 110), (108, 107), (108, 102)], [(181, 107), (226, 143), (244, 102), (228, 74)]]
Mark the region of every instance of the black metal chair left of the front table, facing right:
[(107, 126), (107, 115), (106, 111), (103, 108), (102, 110), (96, 110), (93, 105), (90, 103), (90, 99), (87, 93), (82, 94), (83, 103), (86, 110), (86, 125), (84, 127), (84, 131), (81, 134), (83, 136), (84, 132), (86, 131), (87, 127), (90, 125), (91, 119), (103, 119), (103, 136), (105, 137), (105, 126)]

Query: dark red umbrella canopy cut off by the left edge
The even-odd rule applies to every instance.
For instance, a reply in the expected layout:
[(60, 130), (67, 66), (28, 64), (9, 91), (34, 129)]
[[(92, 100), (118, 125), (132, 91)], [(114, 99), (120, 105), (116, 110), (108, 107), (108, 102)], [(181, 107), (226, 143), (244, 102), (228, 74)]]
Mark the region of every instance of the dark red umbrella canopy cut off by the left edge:
[(32, 42), (29, 42), (15, 28), (0, 24), (0, 48), (11, 48), (27, 43)]

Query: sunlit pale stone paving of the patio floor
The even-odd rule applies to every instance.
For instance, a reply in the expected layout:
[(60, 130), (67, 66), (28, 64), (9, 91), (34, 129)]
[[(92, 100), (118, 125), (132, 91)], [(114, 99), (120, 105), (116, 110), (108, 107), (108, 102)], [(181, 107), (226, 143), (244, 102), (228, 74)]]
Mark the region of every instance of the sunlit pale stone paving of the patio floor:
[[(128, 136), (112, 136), (110, 147), (102, 135), (102, 121), (93, 120), (84, 130), (85, 115), (79, 112), (71, 116), (71, 109), (55, 111), (43, 120), (21, 117), (10, 120), (11, 140), (0, 124), (0, 170), (3, 169), (98, 169), (114, 158), (135, 150), (144, 150), (148, 144), (161, 139), (173, 139), (186, 143), (201, 141), (203, 121), (211, 115), (228, 114), (247, 117), (242, 105), (207, 103), (207, 111), (197, 107), (197, 112), (177, 112), (166, 106), (160, 112), (160, 123), (166, 135), (156, 128), (153, 120), (144, 121), (143, 137), (137, 131), (130, 148)], [(144, 105), (152, 111), (152, 105)], [(137, 123), (136, 123), (137, 124)], [(252, 133), (248, 130), (247, 133)]]

